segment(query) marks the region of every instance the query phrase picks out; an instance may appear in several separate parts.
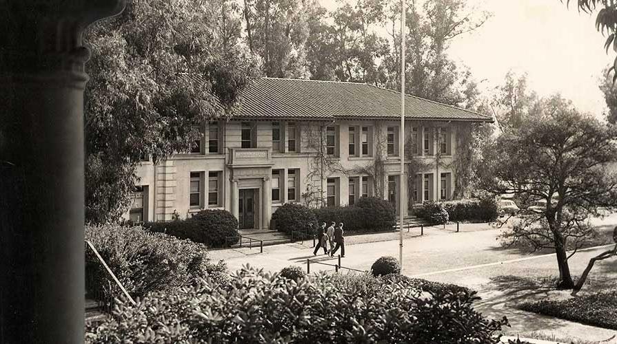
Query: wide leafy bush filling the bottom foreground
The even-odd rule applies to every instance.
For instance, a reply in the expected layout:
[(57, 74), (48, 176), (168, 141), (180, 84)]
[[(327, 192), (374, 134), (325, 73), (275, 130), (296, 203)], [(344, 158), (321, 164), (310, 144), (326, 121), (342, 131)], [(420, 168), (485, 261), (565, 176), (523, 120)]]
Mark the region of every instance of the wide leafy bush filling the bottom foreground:
[(472, 308), (474, 292), (421, 297), (405, 281), (318, 275), (297, 283), (244, 268), (223, 288), (121, 304), (86, 343), (498, 343), (507, 320)]

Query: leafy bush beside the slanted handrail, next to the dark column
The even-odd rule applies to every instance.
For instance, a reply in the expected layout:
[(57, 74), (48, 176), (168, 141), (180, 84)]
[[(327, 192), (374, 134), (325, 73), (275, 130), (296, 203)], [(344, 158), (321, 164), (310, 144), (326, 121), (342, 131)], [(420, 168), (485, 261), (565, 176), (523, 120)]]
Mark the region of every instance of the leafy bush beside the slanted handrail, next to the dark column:
[[(97, 249), (132, 297), (155, 291), (170, 292), (208, 277), (216, 283), (226, 280), (223, 262), (210, 263), (205, 246), (188, 240), (148, 233), (139, 226), (110, 225), (86, 226), (85, 239)], [(90, 249), (86, 250), (85, 270), (92, 277), (86, 286), (88, 293), (102, 291), (105, 299), (120, 296)]]

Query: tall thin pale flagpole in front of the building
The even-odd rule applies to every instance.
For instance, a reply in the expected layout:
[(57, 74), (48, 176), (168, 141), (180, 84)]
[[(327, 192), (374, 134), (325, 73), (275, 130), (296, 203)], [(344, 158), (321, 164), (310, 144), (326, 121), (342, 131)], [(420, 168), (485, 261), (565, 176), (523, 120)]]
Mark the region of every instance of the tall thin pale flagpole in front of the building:
[(398, 135), (398, 155), (401, 157), (401, 176), (398, 179), (399, 186), (399, 211), (398, 217), (398, 255), (403, 269), (403, 217), (405, 217), (405, 10), (407, 9), (405, 0), (401, 0), (401, 129)]

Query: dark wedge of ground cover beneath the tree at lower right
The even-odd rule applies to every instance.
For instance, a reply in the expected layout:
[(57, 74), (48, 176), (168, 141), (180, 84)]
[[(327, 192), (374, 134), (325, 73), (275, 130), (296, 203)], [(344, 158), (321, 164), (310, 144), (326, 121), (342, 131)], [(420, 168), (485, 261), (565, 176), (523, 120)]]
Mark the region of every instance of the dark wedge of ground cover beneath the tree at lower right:
[(523, 303), (521, 310), (617, 330), (617, 290), (561, 301)]

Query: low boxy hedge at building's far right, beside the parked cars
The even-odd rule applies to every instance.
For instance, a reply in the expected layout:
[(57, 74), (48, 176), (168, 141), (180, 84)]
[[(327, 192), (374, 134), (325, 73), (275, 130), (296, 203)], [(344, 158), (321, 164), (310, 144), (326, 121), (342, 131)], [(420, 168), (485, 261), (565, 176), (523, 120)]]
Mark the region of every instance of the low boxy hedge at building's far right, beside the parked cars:
[(492, 197), (444, 202), (443, 206), (450, 221), (493, 222), (498, 216), (497, 202)]

